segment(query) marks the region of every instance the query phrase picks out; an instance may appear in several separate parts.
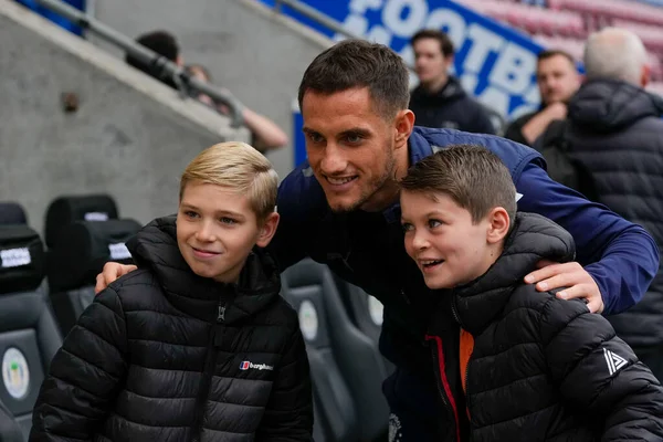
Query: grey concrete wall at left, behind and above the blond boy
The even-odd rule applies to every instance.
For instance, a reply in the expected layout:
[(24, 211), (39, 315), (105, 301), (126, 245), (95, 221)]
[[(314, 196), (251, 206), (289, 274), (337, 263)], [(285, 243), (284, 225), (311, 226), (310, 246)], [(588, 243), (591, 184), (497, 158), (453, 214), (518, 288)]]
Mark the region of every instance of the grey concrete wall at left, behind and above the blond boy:
[[(10, 1), (0, 1), (0, 200), (22, 202), (39, 231), (61, 194), (108, 192), (139, 222), (173, 213), (189, 160), (249, 141), (228, 118)], [(65, 93), (76, 112), (64, 110)]]

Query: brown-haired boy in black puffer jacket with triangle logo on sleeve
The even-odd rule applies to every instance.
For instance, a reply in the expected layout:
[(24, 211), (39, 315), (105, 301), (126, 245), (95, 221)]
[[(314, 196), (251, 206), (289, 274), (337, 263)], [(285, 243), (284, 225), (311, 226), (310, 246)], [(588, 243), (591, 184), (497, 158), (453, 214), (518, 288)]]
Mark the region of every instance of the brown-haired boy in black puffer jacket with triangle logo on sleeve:
[(406, 250), (461, 326), (446, 349), (465, 393), (451, 403), (456, 441), (663, 440), (663, 388), (610, 323), (523, 282), (541, 259), (572, 261), (575, 245), (547, 218), (516, 214), (499, 157), (452, 146), (412, 166), (401, 189)]

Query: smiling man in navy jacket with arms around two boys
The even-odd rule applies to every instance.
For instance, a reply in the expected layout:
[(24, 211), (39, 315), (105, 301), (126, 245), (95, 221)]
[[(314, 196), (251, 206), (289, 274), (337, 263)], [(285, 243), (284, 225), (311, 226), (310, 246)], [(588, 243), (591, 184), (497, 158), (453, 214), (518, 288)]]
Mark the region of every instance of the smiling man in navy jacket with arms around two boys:
[[(460, 326), (408, 256), (400, 223), (399, 180), (408, 167), (455, 144), (478, 144), (507, 166), (518, 209), (566, 228), (578, 262), (525, 277), (538, 291), (564, 288), (591, 312), (621, 312), (640, 299), (659, 267), (651, 236), (599, 204), (550, 180), (541, 157), (504, 138), (414, 126), (408, 71), (389, 48), (346, 40), (320, 53), (299, 85), (308, 160), (278, 188), (281, 224), (270, 244), (281, 270), (309, 256), (385, 305), (380, 350), (397, 369), (383, 383), (392, 442), (460, 441), (467, 417), (457, 366)], [(582, 267), (581, 265), (586, 265)], [(97, 290), (131, 271), (107, 263)], [(430, 314), (445, 317), (434, 332)], [(358, 398), (361, 400), (361, 398)]]

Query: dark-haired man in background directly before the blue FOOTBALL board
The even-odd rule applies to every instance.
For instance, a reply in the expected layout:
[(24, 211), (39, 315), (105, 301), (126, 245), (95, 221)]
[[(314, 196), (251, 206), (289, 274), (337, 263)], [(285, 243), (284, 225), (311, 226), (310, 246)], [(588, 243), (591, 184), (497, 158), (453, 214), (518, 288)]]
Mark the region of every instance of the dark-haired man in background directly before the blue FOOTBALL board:
[(417, 125), (495, 134), (487, 109), (467, 95), (459, 80), (449, 75), (453, 43), (442, 31), (422, 30), (410, 40), (419, 85), (410, 95)]

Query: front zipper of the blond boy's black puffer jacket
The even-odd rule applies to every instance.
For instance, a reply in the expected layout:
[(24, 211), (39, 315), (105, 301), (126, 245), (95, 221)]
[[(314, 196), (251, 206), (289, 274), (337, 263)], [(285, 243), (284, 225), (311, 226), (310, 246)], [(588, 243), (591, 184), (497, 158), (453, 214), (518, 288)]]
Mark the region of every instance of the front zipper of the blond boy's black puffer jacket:
[(204, 360), (204, 371), (198, 386), (198, 394), (196, 396), (196, 407), (193, 411), (194, 421), (192, 425), (193, 435), (191, 436), (191, 442), (200, 442), (202, 436), (202, 427), (204, 424), (204, 406), (210, 393), (212, 377), (214, 376), (214, 366), (217, 364), (217, 355), (219, 354), (219, 345), (223, 340), (223, 332), (225, 330), (225, 327), (219, 327), (225, 323), (225, 303), (223, 301), (219, 301), (217, 322), (212, 326), (212, 338), (208, 344), (208, 351)]

